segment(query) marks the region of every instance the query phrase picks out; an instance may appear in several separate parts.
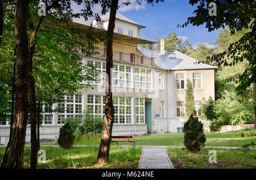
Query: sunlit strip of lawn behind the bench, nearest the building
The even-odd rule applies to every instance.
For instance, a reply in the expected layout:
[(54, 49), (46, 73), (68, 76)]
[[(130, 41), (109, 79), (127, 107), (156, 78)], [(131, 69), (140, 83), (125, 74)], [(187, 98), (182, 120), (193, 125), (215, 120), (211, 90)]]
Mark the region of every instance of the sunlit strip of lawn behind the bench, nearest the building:
[[(225, 147), (241, 147), (244, 144), (254, 142), (256, 144), (256, 136), (250, 137), (238, 137), (236, 134), (205, 134), (207, 138), (206, 146), (225, 146)], [(135, 145), (183, 145), (184, 134), (164, 134), (164, 135), (147, 135), (147, 136), (133, 136)], [(57, 143), (42, 143), (45, 145)], [(88, 140), (81, 138), (77, 145), (98, 145), (100, 144), (100, 138), (94, 138)], [(120, 145), (127, 145), (127, 142), (120, 142)]]

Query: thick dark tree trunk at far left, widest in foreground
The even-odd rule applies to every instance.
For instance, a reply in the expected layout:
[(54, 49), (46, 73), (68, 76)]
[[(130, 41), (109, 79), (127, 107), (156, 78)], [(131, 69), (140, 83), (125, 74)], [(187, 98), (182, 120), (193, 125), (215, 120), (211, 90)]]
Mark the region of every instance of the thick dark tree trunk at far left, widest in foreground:
[(24, 144), (27, 128), (28, 112), (28, 20), (29, 0), (17, 1), (15, 16), (15, 52), (16, 52), (16, 79), (15, 79), (15, 107), (13, 132), (10, 136), (10, 149), (7, 153), (6, 164), (1, 168), (23, 168)]

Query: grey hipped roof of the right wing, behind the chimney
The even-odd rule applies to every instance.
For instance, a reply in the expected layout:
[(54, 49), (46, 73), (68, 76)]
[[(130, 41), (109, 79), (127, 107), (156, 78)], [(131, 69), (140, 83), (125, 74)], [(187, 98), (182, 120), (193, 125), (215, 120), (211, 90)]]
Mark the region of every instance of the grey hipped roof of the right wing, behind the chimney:
[(177, 50), (166, 50), (163, 55), (160, 50), (148, 50), (142, 46), (138, 46), (141, 52), (147, 58), (155, 58), (156, 66), (167, 70), (195, 70), (195, 69), (214, 69), (215, 66), (210, 66), (201, 63), (194, 58), (189, 57)]

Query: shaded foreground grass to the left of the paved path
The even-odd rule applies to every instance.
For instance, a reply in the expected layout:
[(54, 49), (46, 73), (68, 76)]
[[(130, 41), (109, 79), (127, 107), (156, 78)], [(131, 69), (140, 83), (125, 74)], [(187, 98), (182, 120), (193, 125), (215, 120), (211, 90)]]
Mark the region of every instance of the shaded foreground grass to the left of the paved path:
[[(38, 168), (97, 168), (98, 147), (73, 147), (62, 149), (57, 147), (41, 147), (46, 151), (46, 163), (38, 163)], [(30, 147), (24, 150), (24, 168), (30, 168)], [(111, 147), (109, 165), (101, 168), (138, 168), (142, 149)], [(0, 148), (0, 164), (5, 148)]]

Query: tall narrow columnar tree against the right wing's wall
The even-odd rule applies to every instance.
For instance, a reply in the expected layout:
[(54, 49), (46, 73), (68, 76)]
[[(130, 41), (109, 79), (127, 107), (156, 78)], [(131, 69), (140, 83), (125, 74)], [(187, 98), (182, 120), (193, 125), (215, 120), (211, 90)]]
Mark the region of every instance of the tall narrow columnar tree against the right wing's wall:
[(191, 115), (195, 113), (195, 102), (193, 95), (193, 86), (191, 80), (187, 79), (187, 89), (185, 97), (185, 108), (186, 108), (186, 118), (188, 119)]

